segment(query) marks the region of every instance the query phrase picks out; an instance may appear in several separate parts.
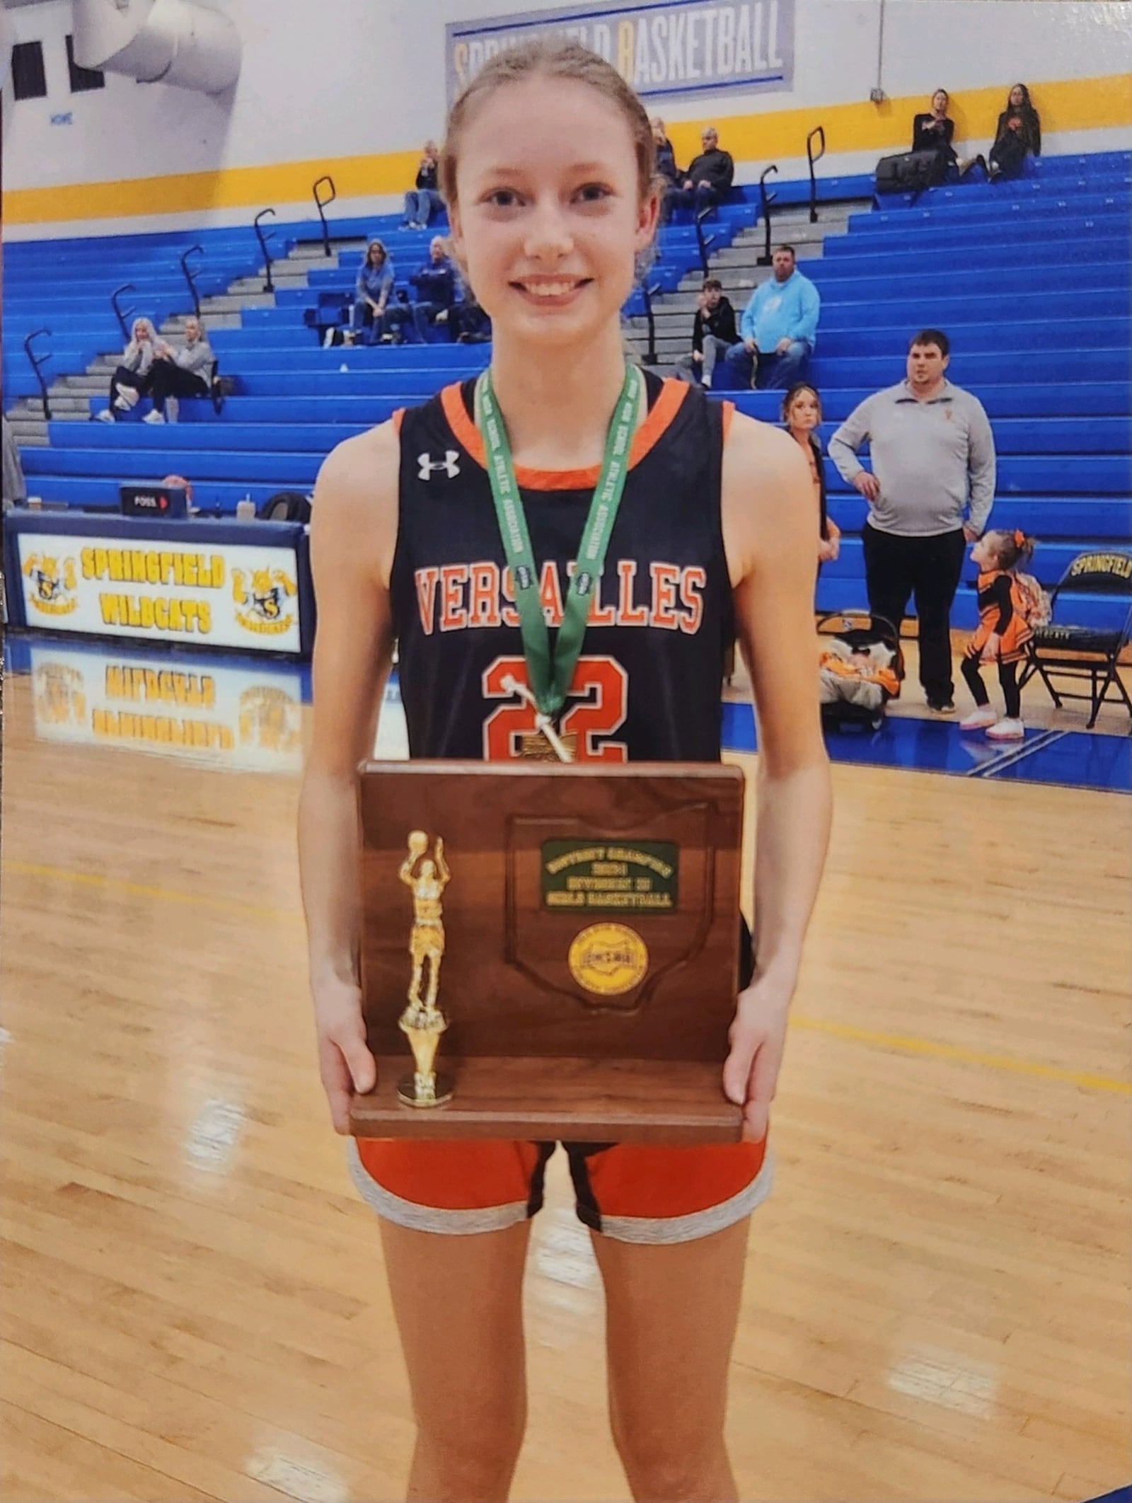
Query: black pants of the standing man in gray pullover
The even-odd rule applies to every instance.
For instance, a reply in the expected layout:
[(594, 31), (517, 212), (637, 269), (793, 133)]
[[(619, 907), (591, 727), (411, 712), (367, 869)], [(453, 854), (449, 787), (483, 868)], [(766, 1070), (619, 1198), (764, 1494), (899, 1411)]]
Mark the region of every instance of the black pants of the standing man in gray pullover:
[(920, 624), (920, 682), (934, 705), (955, 693), (952, 681), (952, 601), (964, 567), (964, 531), (931, 538), (897, 538), (866, 522), (864, 583), (869, 610), (900, 630), (908, 597), (916, 595)]

